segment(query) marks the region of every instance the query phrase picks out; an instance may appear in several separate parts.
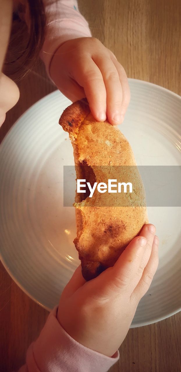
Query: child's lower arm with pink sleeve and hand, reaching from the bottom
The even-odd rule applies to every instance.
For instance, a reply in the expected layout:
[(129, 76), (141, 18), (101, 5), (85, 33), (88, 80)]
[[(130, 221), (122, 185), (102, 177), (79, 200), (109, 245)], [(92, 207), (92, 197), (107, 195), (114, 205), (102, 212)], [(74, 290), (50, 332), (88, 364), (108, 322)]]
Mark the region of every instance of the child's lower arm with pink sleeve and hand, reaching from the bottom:
[(85, 282), (79, 266), (19, 372), (108, 371), (157, 266), (158, 237), (150, 224), (97, 278)]

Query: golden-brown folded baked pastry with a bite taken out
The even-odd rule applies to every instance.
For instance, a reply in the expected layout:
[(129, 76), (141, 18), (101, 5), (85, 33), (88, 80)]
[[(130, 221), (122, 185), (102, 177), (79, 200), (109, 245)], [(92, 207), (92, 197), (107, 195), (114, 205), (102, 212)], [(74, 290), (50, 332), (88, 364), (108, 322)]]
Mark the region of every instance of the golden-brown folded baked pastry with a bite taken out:
[(124, 135), (108, 122), (96, 122), (86, 99), (64, 110), (59, 124), (74, 150), (77, 179), (108, 183), (108, 179), (132, 182), (133, 192), (104, 193), (97, 188), (92, 198), (75, 197), (77, 237), (82, 275), (90, 280), (113, 266), (128, 243), (148, 222), (143, 182), (133, 151)]

